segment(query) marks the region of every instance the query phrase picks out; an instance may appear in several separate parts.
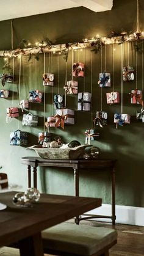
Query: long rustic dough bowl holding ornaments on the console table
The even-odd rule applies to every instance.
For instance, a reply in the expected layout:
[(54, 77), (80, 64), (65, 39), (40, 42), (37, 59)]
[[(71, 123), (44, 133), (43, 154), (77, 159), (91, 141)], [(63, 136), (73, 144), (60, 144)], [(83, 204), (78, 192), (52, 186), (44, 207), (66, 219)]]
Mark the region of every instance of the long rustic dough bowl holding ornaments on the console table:
[(35, 150), (38, 156), (43, 159), (77, 159), (84, 154), (85, 147), (81, 145), (74, 148), (43, 148), (38, 145), (28, 147), (27, 149)]

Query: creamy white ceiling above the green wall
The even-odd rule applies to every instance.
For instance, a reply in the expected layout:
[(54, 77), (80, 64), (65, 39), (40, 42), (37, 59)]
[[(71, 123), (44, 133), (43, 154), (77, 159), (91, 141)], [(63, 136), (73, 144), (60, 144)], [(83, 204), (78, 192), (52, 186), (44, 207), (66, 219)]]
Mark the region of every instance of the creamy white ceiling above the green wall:
[(0, 0), (0, 20), (84, 6), (94, 12), (111, 10), (113, 0)]

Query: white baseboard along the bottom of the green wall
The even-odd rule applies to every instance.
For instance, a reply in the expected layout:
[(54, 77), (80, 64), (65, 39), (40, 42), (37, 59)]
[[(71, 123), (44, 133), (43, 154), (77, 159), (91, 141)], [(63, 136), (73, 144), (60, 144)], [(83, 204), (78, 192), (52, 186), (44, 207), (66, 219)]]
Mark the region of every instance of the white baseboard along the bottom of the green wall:
[[(144, 208), (116, 205), (116, 223), (144, 226)], [(112, 206), (102, 204), (101, 207), (88, 211), (90, 214), (112, 215)], [(95, 221), (111, 222), (110, 219), (93, 219)]]

